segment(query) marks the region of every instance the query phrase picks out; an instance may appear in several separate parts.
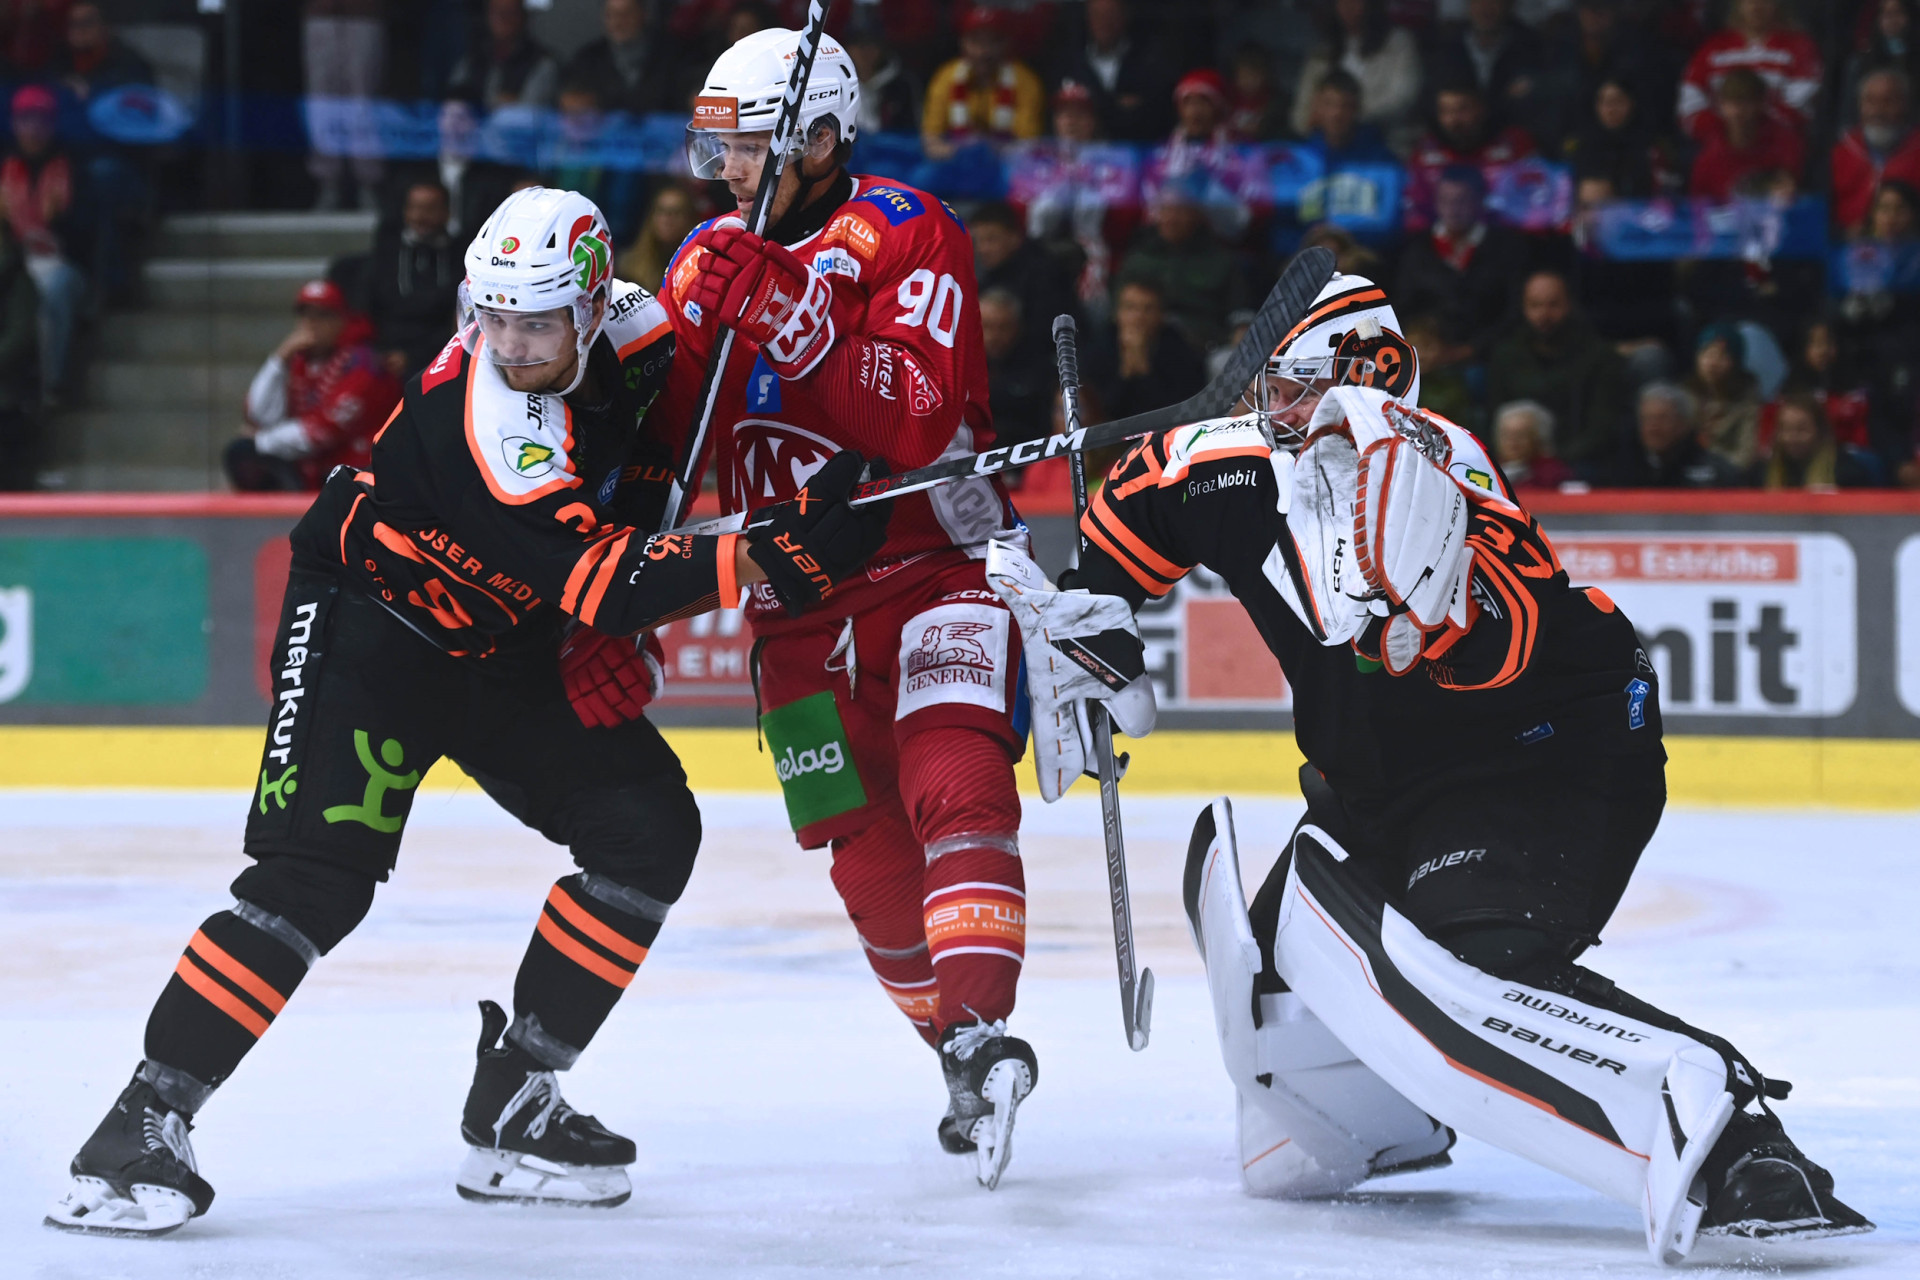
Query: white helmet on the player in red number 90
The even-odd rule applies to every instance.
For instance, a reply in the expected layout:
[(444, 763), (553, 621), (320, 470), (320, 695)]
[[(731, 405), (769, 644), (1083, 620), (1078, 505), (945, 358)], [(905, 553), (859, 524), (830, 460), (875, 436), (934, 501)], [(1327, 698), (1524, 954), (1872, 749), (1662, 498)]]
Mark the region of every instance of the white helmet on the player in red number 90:
[[(770, 27), (755, 31), (714, 59), (707, 83), (693, 98), (693, 121), (687, 125), (687, 167), (693, 177), (720, 177), (728, 134), (774, 130), (793, 59), (799, 56), (801, 33)], [(839, 40), (828, 35), (820, 36), (820, 50), (814, 54), (789, 157), (804, 148), (814, 121), (822, 119), (831, 121), (835, 142), (852, 142), (860, 121), (860, 75)]]

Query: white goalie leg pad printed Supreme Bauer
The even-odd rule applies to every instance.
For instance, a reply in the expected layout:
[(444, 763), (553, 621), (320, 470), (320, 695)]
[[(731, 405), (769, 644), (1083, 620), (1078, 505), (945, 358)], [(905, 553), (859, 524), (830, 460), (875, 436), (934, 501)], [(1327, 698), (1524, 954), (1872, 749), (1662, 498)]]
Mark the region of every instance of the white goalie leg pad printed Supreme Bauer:
[(1306, 825), (1275, 967), (1344, 1044), (1442, 1123), (1638, 1205), (1655, 1261), (1693, 1245), (1699, 1167), (1734, 1113), (1692, 1036), (1459, 961)]

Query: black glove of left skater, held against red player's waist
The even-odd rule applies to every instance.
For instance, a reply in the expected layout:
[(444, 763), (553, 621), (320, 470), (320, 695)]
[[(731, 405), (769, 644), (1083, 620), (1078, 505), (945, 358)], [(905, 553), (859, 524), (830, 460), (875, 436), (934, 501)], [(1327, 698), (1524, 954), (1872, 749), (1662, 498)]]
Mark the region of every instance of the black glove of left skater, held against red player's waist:
[(887, 541), (893, 501), (849, 507), (847, 493), (862, 474), (885, 476), (854, 449), (843, 449), (812, 474), (791, 501), (753, 512), (747, 555), (766, 574), (787, 614), (799, 618), (833, 595), (833, 585), (858, 572)]

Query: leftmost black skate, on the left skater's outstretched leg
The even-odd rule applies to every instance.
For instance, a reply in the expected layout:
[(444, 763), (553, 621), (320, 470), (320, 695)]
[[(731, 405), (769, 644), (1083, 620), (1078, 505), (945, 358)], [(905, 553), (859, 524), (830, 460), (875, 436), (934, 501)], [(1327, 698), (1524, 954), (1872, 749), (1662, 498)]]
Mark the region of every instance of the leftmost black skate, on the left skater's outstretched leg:
[(213, 1188), (194, 1167), (188, 1128), (190, 1117), (134, 1073), (73, 1157), (73, 1186), (46, 1224), (96, 1236), (165, 1236), (186, 1226), (213, 1203)]

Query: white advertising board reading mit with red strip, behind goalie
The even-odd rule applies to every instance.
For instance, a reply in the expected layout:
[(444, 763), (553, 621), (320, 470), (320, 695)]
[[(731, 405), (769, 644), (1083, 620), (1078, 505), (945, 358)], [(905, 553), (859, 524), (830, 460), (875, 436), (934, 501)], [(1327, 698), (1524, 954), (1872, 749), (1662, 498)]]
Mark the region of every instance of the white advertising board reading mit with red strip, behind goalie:
[[(1836, 533), (1559, 535), (1576, 587), (1640, 631), (1665, 716), (1837, 716), (1859, 687), (1857, 568)], [(1638, 681), (1636, 681), (1638, 683)], [(1649, 718), (1628, 691), (1628, 723)]]

